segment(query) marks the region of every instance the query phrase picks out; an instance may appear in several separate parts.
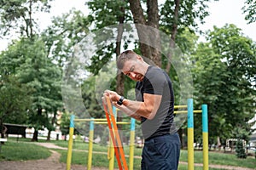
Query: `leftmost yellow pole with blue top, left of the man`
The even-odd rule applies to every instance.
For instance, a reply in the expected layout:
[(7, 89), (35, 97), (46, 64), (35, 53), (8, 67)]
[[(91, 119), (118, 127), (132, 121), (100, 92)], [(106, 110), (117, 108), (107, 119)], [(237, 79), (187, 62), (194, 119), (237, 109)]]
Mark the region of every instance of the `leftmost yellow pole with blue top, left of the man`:
[(72, 159), (72, 146), (73, 146), (73, 123), (74, 116), (70, 116), (70, 125), (69, 125), (69, 139), (68, 139), (68, 148), (67, 148), (67, 170), (70, 170), (71, 159)]

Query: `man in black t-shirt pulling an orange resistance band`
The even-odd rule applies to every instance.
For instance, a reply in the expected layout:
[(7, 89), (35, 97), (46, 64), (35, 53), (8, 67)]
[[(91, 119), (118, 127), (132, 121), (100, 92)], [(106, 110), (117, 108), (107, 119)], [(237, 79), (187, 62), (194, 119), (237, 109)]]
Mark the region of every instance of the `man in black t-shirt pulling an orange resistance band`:
[(137, 82), (137, 100), (125, 99), (110, 90), (106, 90), (104, 96), (120, 111), (142, 122), (145, 139), (142, 170), (177, 169), (180, 139), (173, 122), (174, 94), (170, 78), (131, 50), (119, 55), (117, 66)]

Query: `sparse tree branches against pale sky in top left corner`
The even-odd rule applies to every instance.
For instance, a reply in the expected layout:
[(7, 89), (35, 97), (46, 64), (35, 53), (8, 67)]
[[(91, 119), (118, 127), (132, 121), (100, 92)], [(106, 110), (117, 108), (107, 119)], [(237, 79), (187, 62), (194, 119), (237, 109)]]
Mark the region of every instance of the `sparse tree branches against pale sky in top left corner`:
[[(19, 32), (19, 36), (32, 38), (38, 33), (35, 29), (37, 23), (33, 14), (38, 11), (49, 12), (51, 0), (3, 0), (0, 2), (0, 16), (3, 25), (3, 36), (12, 31)], [(17, 29), (19, 28), (19, 30)]]

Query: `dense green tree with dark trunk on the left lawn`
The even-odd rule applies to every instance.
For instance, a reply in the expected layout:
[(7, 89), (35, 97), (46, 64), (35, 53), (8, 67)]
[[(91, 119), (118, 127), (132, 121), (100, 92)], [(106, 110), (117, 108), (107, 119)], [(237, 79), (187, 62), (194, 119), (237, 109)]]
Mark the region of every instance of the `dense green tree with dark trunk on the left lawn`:
[(25, 62), (20, 65), (18, 77), (21, 83), (32, 89), (32, 115), (30, 122), (35, 128), (33, 141), (38, 141), (38, 130), (50, 128), (48, 113), (61, 107), (61, 71), (45, 54), (41, 39), (22, 42)]

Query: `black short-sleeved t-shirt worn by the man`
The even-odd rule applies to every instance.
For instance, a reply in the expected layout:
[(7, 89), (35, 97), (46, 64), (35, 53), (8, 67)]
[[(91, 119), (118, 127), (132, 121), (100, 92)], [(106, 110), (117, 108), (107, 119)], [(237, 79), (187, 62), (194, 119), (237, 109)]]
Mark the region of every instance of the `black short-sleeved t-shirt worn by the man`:
[(143, 81), (136, 84), (136, 99), (143, 101), (143, 94), (161, 95), (160, 108), (156, 112), (154, 119), (148, 120), (142, 117), (142, 130), (144, 139), (151, 139), (155, 136), (166, 133), (176, 133), (174, 127), (174, 94), (172, 82), (165, 71), (155, 66), (149, 66)]

